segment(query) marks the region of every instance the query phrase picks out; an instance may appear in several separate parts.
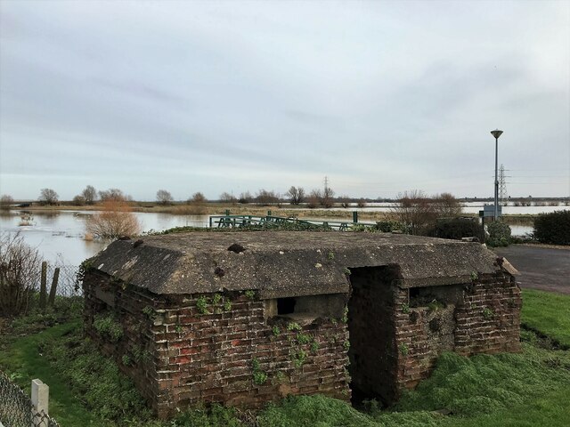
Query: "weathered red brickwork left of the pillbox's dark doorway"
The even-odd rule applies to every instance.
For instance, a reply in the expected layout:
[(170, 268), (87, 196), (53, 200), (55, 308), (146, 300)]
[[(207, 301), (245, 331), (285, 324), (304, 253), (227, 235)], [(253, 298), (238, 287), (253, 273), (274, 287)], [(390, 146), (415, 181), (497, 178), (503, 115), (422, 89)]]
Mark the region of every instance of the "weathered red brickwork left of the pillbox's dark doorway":
[[(119, 283), (105, 285), (114, 286), (116, 295), (107, 304), (96, 295), (103, 282), (96, 274), (85, 280), (88, 334), (102, 342), (161, 416), (198, 402), (259, 407), (288, 394), (313, 393), (350, 399), (342, 318), (306, 325), (273, 321), (265, 318), (265, 304), (255, 294), (167, 298)], [(123, 326), (117, 343), (91, 327), (104, 310)], [(146, 352), (139, 356), (140, 351)]]

